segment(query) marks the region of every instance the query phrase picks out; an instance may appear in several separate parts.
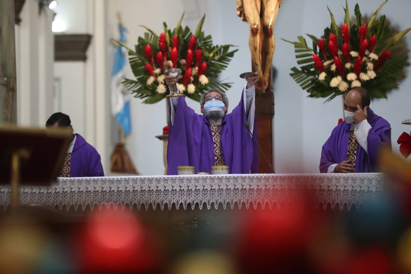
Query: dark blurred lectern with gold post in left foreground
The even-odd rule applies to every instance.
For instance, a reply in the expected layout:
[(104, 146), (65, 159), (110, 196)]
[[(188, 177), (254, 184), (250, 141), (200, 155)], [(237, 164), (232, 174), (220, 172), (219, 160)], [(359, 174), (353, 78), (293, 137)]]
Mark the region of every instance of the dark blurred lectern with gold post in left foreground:
[(13, 213), (20, 184), (49, 186), (55, 180), (72, 136), (68, 129), (0, 126), (0, 184), (10, 184)]

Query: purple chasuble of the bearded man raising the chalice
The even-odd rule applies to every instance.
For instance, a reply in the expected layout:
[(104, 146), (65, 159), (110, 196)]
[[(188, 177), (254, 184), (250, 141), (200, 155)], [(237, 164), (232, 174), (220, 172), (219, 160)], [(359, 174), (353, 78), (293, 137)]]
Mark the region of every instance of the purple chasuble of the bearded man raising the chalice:
[[(244, 127), (247, 117), (243, 95), (241, 94), (240, 103), (231, 113), (224, 116), (221, 124), (221, 144), (230, 174), (258, 172), (258, 148), (248, 129)], [(257, 138), (255, 117), (254, 115), (253, 135)], [(179, 97), (174, 123), (170, 120), (167, 174), (177, 175), (177, 166), (195, 166), (195, 172), (211, 172), (211, 166), (215, 165), (214, 159), (208, 119), (195, 113), (187, 106), (185, 98)]]

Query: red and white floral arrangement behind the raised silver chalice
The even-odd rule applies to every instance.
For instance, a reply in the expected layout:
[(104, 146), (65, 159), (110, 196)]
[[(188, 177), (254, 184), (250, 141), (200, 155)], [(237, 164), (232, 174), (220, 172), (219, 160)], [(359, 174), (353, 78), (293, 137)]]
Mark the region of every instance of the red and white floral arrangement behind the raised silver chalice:
[(145, 99), (143, 103), (154, 104), (168, 94), (164, 81), (164, 70), (180, 68), (177, 83), (180, 92), (196, 101), (210, 87), (223, 92), (231, 87), (230, 83), (219, 83), (217, 77), (238, 49), (230, 51), (233, 45), (213, 45), (211, 36), (201, 30), (205, 15), (201, 18), (196, 32), (188, 27), (182, 28), (182, 14), (177, 27), (171, 31), (164, 22), (164, 32), (157, 35), (153, 30), (142, 26), (148, 32), (139, 37), (135, 51), (129, 50), (129, 61), (136, 79), (126, 79), (123, 84), (134, 97)]

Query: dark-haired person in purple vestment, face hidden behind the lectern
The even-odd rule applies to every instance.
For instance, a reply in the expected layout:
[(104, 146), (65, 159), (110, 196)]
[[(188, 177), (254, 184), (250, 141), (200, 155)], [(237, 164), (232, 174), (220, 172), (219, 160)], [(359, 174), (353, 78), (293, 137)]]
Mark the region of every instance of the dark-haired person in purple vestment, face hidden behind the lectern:
[[(48, 118), (46, 127), (65, 127), (73, 131), (69, 115), (58, 112)], [(100, 154), (80, 134), (73, 134), (59, 177), (104, 176)]]

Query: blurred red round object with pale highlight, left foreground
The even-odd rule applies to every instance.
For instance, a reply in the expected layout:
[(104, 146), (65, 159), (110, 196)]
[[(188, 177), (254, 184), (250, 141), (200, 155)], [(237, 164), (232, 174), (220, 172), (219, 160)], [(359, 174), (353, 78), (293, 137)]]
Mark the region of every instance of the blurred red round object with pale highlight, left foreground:
[(161, 258), (129, 210), (95, 210), (81, 237), (81, 273), (154, 273)]

